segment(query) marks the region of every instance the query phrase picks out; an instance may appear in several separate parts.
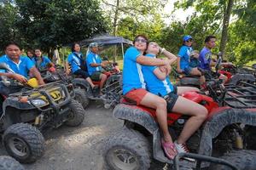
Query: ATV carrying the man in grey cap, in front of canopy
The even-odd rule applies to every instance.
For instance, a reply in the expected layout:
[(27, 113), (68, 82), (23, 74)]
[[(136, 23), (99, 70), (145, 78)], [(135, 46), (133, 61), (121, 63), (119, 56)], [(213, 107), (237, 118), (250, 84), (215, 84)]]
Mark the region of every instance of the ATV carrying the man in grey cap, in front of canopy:
[[(99, 88), (94, 91), (90, 87), (89, 82), (87, 82), (83, 77), (74, 76), (72, 83), (73, 86), (77, 89), (79, 94), (76, 99), (81, 103), (84, 109), (89, 105), (91, 99), (100, 99), (103, 100), (105, 108), (110, 108), (119, 103), (120, 96), (122, 94), (121, 89), (121, 72), (114, 69), (115, 65), (109, 65), (105, 68), (105, 71), (102, 74), (107, 75), (108, 79), (105, 82), (104, 87), (102, 88), (102, 96), (100, 95)], [(93, 81), (95, 85), (99, 85), (100, 81)]]

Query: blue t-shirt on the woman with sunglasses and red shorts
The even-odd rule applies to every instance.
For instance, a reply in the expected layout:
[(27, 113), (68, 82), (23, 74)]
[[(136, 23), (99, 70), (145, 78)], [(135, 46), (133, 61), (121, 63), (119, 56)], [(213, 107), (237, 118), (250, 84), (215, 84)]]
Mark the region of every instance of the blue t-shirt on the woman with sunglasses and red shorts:
[(123, 94), (127, 94), (134, 88), (146, 88), (142, 65), (136, 59), (142, 54), (135, 47), (128, 48), (125, 52), (123, 67)]

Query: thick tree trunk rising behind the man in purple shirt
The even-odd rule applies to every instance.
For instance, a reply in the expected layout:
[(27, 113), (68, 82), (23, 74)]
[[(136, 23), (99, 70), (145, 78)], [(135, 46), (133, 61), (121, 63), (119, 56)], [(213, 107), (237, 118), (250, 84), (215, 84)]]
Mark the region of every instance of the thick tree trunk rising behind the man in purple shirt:
[(229, 0), (228, 6), (224, 5), (224, 19), (223, 19), (223, 26), (222, 26), (222, 34), (221, 34), (221, 41), (219, 51), (223, 54), (225, 53), (225, 47), (228, 37), (228, 29), (230, 25), (230, 14), (233, 7), (234, 0)]

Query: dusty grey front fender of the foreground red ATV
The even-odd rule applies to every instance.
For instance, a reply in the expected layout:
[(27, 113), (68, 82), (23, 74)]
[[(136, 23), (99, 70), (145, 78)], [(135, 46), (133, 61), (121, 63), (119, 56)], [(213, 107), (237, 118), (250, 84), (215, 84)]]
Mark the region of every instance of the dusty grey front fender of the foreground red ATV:
[(256, 109), (227, 109), (214, 113), (203, 127), (199, 154), (212, 156), (212, 139), (216, 138), (224, 127), (234, 123), (256, 127)]

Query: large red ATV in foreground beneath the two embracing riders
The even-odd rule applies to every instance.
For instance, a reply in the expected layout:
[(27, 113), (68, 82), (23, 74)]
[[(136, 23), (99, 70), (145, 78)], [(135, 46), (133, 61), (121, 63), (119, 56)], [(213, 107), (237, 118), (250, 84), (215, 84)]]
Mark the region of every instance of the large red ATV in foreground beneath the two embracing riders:
[[(207, 82), (207, 95), (188, 92), (183, 97), (204, 105), (207, 121), (187, 141), (189, 150), (203, 156), (222, 156), (240, 169), (256, 167), (256, 86), (244, 82), (242, 86), (223, 87), (221, 81)], [(146, 170), (151, 157), (173, 164), (160, 144), (160, 128), (155, 111), (143, 106), (129, 105), (123, 100), (113, 110), (113, 117), (125, 121), (124, 127), (106, 143), (105, 161), (109, 169)], [(189, 116), (168, 113), (172, 139), (177, 139)], [(195, 162), (183, 161), (183, 166), (195, 167)], [(209, 167), (204, 163), (202, 167)], [(212, 167), (224, 169), (224, 167)]]

